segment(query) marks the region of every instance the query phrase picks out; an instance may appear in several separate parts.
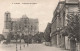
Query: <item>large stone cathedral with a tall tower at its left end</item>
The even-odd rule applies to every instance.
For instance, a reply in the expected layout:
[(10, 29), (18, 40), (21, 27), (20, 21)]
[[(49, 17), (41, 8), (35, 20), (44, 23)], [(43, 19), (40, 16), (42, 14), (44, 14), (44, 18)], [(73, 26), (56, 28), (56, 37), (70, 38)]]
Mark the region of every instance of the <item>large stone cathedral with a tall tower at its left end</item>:
[(3, 35), (7, 38), (9, 33), (35, 35), (39, 32), (38, 19), (28, 18), (23, 15), (22, 18), (11, 18), (10, 12), (5, 12)]

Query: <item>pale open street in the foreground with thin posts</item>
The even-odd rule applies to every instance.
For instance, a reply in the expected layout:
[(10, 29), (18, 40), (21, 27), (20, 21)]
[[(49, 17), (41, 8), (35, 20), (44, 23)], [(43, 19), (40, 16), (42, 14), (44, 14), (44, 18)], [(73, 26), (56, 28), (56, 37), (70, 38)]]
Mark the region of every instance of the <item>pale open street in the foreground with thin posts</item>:
[[(25, 46), (24, 46), (25, 45)], [(16, 51), (16, 44), (0, 44), (0, 51)], [(43, 44), (21, 44), (21, 50), (20, 45), (17, 45), (17, 51), (68, 51), (63, 50), (57, 47), (50, 47), (45, 46)]]

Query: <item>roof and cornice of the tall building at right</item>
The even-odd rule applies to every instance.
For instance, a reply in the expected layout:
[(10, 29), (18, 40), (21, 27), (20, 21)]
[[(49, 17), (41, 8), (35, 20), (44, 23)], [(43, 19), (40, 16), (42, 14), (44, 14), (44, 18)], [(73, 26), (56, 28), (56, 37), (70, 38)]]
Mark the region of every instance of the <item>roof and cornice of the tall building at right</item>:
[[(69, 2), (70, 1), (70, 2)], [(74, 2), (75, 1), (75, 2)], [(54, 20), (56, 19), (56, 15), (59, 14), (62, 10), (64, 10), (65, 5), (78, 5), (79, 0), (65, 0), (65, 1), (60, 1), (55, 9), (55, 11), (53, 12), (53, 19), (52, 22), (54, 22)]]

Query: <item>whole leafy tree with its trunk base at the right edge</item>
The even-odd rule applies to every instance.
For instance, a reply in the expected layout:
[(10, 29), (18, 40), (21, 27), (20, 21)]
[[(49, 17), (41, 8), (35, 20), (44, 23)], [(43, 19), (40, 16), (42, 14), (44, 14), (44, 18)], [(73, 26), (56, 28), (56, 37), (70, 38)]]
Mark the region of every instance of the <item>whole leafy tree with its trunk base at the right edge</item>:
[(67, 33), (70, 39), (70, 50), (76, 51), (76, 40), (79, 41), (79, 16), (68, 14)]

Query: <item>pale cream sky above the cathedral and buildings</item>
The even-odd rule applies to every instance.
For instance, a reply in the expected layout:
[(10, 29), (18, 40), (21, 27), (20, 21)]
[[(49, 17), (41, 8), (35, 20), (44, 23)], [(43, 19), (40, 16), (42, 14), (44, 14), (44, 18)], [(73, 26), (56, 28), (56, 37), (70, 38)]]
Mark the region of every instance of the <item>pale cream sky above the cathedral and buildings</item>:
[(39, 31), (44, 32), (48, 22), (51, 22), (53, 18), (53, 12), (58, 2), (59, 0), (0, 0), (0, 33), (4, 29), (4, 13), (6, 11), (11, 13), (11, 18), (21, 18), (22, 15), (27, 15), (28, 18), (37, 18)]

